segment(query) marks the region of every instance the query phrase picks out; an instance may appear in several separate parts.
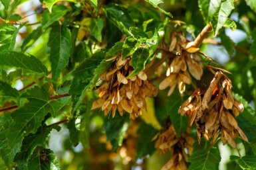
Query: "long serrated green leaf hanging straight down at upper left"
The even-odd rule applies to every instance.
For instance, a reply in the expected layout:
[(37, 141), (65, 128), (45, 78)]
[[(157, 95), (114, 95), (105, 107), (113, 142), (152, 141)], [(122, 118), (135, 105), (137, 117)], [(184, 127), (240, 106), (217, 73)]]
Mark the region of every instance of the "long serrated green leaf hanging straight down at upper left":
[(58, 25), (53, 26), (50, 37), (48, 46), (51, 48), (51, 70), (53, 79), (57, 80), (63, 68), (68, 65), (71, 48), (71, 33), (68, 28)]

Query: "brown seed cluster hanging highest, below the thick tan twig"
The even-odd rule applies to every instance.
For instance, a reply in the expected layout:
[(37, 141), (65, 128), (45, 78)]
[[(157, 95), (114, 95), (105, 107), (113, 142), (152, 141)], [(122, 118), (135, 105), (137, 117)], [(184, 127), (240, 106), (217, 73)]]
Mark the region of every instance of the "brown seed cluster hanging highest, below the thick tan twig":
[(160, 83), (159, 89), (163, 90), (170, 87), (168, 92), (168, 96), (170, 96), (178, 85), (180, 95), (183, 95), (186, 84), (192, 83), (188, 71), (197, 80), (203, 74), (201, 59), (195, 54), (199, 48), (193, 47), (193, 42), (189, 42), (181, 33), (177, 32), (172, 36), (169, 51), (174, 53), (176, 57), (166, 62), (166, 78)]

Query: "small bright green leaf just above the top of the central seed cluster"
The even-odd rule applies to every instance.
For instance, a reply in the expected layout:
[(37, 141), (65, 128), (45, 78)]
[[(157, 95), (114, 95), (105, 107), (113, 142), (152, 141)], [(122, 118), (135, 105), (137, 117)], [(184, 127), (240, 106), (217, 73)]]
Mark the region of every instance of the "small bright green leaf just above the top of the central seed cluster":
[(132, 55), (134, 51), (136, 50), (136, 43), (137, 40), (135, 40), (133, 37), (128, 36), (126, 40), (124, 41), (124, 45), (122, 46), (122, 58), (127, 58), (128, 56)]

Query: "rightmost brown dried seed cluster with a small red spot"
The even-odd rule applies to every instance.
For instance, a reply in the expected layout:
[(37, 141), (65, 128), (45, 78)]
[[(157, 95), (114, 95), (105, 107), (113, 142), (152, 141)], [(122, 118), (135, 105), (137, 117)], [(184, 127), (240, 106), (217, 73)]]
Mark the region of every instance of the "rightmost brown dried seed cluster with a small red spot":
[(245, 134), (237, 125), (235, 117), (243, 112), (243, 104), (235, 100), (231, 91), (231, 81), (221, 71), (215, 73), (207, 91), (202, 94), (196, 89), (179, 108), (179, 113), (190, 116), (189, 126), (195, 122), (199, 143), (201, 137), (211, 140), (211, 146), (221, 133), (221, 141), (236, 148), (238, 135), (248, 142)]

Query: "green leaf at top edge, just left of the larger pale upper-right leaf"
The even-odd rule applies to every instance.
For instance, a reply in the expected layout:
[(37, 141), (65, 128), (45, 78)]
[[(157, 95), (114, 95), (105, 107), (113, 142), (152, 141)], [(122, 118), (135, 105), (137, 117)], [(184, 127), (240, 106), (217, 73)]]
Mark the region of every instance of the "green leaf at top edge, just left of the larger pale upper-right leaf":
[(204, 21), (209, 24), (213, 15), (221, 5), (221, 0), (198, 0), (198, 6), (201, 9)]

